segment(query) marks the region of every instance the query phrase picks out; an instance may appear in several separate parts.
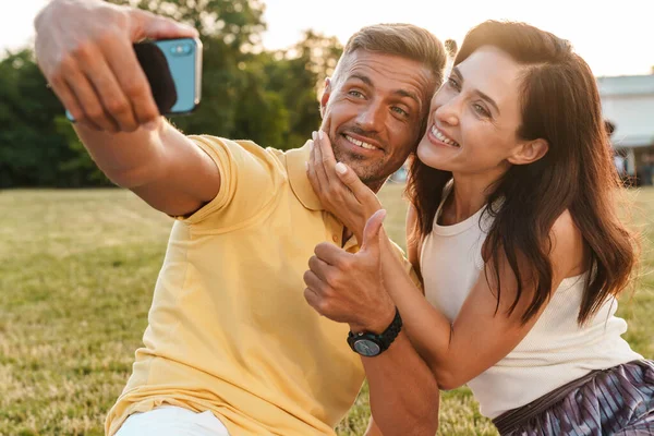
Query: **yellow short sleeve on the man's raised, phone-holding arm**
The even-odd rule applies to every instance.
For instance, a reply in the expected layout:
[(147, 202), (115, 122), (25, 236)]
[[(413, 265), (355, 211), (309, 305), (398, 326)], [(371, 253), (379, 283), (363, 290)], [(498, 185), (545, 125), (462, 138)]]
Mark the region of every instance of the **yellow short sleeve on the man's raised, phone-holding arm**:
[(220, 190), (198, 210), (177, 219), (227, 231), (247, 225), (275, 199), (284, 172), (272, 153), (250, 141), (205, 135), (189, 137), (218, 168)]

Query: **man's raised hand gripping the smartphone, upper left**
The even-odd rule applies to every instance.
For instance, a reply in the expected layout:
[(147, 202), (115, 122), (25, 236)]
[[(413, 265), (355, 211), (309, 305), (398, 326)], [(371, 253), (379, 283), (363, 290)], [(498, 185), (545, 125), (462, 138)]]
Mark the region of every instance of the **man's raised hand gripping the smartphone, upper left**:
[(159, 110), (133, 44), (197, 38), (197, 31), (149, 12), (99, 0), (52, 0), (35, 20), (36, 58), (78, 124), (134, 132)]

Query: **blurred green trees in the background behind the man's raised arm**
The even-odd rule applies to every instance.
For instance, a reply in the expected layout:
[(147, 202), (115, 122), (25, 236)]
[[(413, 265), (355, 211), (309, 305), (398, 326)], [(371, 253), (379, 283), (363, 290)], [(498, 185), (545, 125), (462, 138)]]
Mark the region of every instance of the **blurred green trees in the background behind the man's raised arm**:
[[(183, 132), (288, 149), (319, 125), (318, 95), (342, 50), (335, 38), (307, 31), (288, 50), (265, 51), (261, 0), (131, 3), (201, 32), (202, 102), (192, 116), (171, 118)], [(0, 60), (0, 187), (98, 185), (110, 182), (63, 117), (32, 50), (8, 53)]]

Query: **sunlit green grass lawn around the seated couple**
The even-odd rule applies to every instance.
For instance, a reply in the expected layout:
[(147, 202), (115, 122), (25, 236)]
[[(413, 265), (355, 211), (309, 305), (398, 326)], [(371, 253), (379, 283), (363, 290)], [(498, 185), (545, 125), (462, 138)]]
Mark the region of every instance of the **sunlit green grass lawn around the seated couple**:
[[(401, 186), (386, 227), (403, 244)], [(654, 190), (630, 208), (654, 269)], [(0, 435), (100, 435), (147, 324), (171, 219), (121, 190), (0, 192)], [(627, 339), (654, 358), (654, 277), (620, 307)], [(338, 427), (363, 434), (367, 389)], [(444, 392), (440, 434), (495, 435), (465, 388)]]

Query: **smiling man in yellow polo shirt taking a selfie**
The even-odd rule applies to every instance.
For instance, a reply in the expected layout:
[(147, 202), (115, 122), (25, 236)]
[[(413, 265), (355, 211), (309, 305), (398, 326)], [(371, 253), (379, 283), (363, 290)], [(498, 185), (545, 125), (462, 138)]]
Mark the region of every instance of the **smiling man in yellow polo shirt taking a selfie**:
[[(97, 0), (53, 0), (35, 25), (38, 63), (95, 162), (177, 217), (107, 433), (332, 435), (365, 373), (371, 434), (433, 435), (438, 389), (398, 334), (389, 296), (356, 295), (338, 323), (304, 299), (317, 243), (358, 250), (308, 183), (308, 146), (184, 136), (159, 117), (131, 45), (192, 28)], [(414, 26), (372, 26), (350, 40), (322, 97), (323, 129), (371, 187), (415, 147), (444, 63), (440, 43)], [(350, 331), (392, 346), (360, 356)]]

